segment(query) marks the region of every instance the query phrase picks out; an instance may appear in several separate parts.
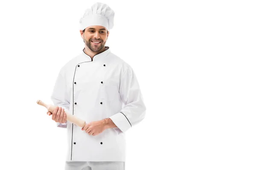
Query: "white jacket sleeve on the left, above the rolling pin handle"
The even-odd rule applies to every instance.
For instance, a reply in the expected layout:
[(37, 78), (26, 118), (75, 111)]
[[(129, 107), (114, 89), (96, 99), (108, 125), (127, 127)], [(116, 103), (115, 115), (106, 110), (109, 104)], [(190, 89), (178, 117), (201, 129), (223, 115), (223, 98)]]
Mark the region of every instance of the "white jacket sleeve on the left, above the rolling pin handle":
[[(70, 97), (67, 94), (66, 82), (67, 81), (65, 80), (65, 77), (60, 71), (55, 81), (55, 85), (51, 95), (51, 100), (55, 106), (64, 108), (66, 112), (69, 112)], [(57, 122), (57, 127), (67, 127), (67, 122), (66, 123)]]

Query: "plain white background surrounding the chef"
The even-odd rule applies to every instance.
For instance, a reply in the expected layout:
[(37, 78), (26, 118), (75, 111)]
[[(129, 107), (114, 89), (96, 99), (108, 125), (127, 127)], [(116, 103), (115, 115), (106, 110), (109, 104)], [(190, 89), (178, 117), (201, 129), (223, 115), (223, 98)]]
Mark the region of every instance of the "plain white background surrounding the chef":
[[(91, 0), (0, 2), (1, 170), (63, 170), (66, 129), (38, 99), (80, 54)], [(253, 0), (102, 0), (107, 46), (137, 75), (145, 119), (127, 132), (126, 170), (256, 169)], [(168, 2), (168, 3), (167, 3)]]

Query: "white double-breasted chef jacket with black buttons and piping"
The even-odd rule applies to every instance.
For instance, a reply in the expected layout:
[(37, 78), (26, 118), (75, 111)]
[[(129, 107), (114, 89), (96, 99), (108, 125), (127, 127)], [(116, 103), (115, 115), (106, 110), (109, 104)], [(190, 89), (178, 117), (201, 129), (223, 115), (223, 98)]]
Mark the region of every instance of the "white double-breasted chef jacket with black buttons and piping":
[(67, 121), (66, 161), (125, 161), (125, 132), (145, 117), (145, 104), (133, 69), (109, 47), (91, 59), (84, 51), (60, 70), (54, 105), (90, 123), (110, 118), (118, 128), (91, 136)]

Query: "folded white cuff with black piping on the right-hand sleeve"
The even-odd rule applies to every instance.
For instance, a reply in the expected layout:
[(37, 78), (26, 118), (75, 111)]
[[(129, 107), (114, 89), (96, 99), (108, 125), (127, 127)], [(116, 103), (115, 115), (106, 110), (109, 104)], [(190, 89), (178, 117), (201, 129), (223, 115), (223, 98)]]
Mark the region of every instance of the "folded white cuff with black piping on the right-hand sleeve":
[(129, 122), (129, 120), (126, 118), (126, 116), (119, 112), (114, 114), (113, 116), (109, 117), (113, 123), (122, 131), (122, 132), (126, 132), (128, 129), (131, 128), (131, 124)]

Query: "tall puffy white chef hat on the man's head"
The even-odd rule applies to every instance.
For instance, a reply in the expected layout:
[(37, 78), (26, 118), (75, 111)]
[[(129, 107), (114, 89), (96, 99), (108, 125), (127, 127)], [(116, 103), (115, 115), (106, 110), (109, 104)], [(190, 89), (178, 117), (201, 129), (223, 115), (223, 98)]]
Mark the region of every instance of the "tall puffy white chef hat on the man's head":
[(80, 29), (84, 30), (88, 26), (104, 26), (109, 30), (113, 28), (114, 15), (114, 11), (107, 4), (95, 3), (85, 10), (79, 21)]

